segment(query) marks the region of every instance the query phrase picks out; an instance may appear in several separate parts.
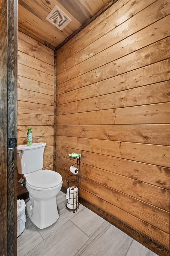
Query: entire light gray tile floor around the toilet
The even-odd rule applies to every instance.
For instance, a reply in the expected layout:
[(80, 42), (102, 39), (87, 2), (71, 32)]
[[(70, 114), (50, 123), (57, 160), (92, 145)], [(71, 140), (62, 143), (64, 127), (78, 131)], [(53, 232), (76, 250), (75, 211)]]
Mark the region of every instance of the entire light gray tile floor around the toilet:
[(59, 219), (37, 228), (27, 217), (18, 237), (18, 256), (157, 256), (83, 205), (66, 209), (66, 195), (57, 196)]

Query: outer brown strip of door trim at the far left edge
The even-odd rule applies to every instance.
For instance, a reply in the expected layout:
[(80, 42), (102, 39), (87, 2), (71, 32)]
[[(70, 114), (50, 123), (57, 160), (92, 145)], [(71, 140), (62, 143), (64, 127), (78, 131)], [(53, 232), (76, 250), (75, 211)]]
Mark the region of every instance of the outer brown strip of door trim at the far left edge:
[(0, 2), (0, 255), (7, 255), (7, 1)]

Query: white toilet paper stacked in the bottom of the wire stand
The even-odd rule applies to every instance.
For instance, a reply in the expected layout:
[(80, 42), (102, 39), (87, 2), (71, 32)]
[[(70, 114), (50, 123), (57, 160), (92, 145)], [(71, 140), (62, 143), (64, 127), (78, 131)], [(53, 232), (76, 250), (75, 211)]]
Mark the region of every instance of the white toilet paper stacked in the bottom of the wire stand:
[(66, 194), (67, 200), (67, 207), (69, 209), (76, 209), (78, 207), (78, 188), (77, 187), (69, 187), (67, 189)]

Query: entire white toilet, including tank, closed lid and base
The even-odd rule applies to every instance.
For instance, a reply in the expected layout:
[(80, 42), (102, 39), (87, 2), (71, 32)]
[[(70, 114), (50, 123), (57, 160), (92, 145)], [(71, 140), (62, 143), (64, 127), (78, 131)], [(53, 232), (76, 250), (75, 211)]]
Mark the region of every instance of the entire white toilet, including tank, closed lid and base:
[(46, 143), (19, 145), (18, 172), (26, 178), (30, 201), (26, 210), (31, 221), (40, 229), (49, 227), (59, 218), (56, 195), (61, 190), (62, 177), (51, 170), (42, 170)]

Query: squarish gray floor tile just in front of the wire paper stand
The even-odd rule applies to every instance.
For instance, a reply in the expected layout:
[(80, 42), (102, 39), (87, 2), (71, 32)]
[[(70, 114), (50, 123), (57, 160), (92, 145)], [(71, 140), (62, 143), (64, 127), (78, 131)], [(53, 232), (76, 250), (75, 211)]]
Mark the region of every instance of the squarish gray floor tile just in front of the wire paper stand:
[(86, 235), (91, 236), (105, 220), (89, 209), (84, 208), (71, 221), (84, 231)]

